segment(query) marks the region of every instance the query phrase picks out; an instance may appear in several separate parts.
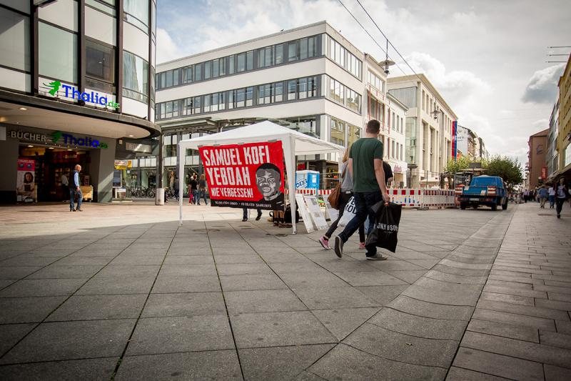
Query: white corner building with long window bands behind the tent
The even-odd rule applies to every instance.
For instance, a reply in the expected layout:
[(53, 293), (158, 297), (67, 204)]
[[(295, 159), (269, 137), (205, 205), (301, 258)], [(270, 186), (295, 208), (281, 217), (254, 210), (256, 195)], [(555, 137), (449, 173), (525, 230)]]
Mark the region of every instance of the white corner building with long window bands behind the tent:
[[(166, 177), (179, 139), (270, 119), (347, 145), (363, 127), (364, 54), (325, 21), (158, 65), (156, 117), (163, 129)], [(200, 172), (188, 152), (188, 173)], [(298, 158), (329, 187), (335, 154)]]

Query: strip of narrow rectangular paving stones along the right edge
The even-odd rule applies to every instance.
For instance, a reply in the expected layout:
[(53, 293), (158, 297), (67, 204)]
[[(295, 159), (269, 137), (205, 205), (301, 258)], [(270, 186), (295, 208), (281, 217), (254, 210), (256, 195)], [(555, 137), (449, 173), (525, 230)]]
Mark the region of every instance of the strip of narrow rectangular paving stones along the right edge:
[(536, 203), (517, 208), (450, 380), (569, 380), (571, 304), (559, 293), (571, 290), (570, 217), (567, 207), (561, 219)]

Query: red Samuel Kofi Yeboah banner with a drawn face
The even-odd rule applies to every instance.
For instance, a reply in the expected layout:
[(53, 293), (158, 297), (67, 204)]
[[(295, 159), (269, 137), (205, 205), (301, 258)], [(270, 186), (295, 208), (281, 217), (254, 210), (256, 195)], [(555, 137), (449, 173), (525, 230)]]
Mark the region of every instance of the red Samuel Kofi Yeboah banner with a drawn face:
[(213, 207), (283, 209), (281, 142), (204, 146), (198, 151)]

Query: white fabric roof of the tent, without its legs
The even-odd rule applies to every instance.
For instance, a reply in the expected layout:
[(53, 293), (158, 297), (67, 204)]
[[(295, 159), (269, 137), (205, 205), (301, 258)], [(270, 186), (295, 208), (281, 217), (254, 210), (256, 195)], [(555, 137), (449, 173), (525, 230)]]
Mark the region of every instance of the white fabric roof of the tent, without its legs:
[(178, 144), (181, 148), (198, 149), (201, 146), (268, 142), (270, 140), (283, 141), (290, 137), (293, 137), (295, 140), (295, 155), (343, 152), (345, 149), (345, 147), (338, 144), (325, 142), (325, 140), (310, 137), (269, 121), (229, 129), (228, 131), (204, 135), (194, 139), (181, 140)]

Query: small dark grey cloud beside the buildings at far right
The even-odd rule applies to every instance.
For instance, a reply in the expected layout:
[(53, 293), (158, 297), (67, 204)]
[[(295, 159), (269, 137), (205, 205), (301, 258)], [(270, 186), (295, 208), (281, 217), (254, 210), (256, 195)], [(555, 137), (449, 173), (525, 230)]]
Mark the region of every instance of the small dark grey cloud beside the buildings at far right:
[(558, 64), (537, 70), (525, 87), (522, 101), (526, 103), (552, 104), (557, 97), (557, 82), (565, 64)]

